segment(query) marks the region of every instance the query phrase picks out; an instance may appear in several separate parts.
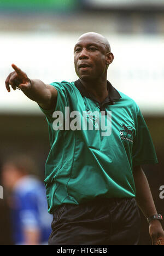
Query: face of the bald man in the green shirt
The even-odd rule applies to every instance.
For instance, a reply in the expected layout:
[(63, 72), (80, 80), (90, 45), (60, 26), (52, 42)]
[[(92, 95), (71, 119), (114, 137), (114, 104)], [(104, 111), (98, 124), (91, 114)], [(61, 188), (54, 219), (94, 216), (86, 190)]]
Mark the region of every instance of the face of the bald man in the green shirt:
[(110, 54), (107, 53), (103, 38), (93, 34), (85, 34), (75, 44), (75, 72), (81, 80), (95, 80), (107, 75), (109, 62)]

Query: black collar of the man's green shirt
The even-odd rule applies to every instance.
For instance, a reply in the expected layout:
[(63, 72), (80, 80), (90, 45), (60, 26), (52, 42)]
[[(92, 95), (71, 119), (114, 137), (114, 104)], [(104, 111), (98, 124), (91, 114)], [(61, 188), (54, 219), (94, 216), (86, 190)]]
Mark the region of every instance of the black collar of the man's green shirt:
[[(91, 100), (98, 102), (83, 86), (83, 84), (80, 82), (80, 79), (74, 82), (77, 89), (80, 91), (80, 94), (82, 97), (91, 98)], [(121, 95), (119, 92), (110, 84), (109, 81), (107, 81), (107, 89), (108, 89), (108, 97), (102, 102), (98, 102), (100, 106), (104, 106), (104, 104), (111, 104), (113, 105), (114, 101), (118, 101), (121, 98)]]

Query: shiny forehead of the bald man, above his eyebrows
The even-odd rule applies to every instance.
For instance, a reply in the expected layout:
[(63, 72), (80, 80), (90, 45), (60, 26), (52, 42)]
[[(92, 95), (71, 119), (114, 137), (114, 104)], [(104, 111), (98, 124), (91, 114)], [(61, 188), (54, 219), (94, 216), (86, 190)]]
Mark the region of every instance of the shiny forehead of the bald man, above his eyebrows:
[(96, 44), (101, 48), (106, 48), (106, 43), (104, 42), (104, 38), (95, 35), (85, 35), (81, 36), (75, 46), (77, 45), (89, 45), (89, 44)]

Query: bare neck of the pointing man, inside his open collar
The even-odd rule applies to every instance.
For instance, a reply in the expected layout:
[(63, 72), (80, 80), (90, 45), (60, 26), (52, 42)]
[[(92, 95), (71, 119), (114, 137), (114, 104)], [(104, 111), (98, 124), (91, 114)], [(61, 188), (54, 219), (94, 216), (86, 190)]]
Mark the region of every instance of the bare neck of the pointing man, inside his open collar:
[(103, 80), (91, 81), (84, 81), (80, 79), (80, 82), (83, 84), (86, 90), (96, 98), (97, 101), (102, 102), (108, 96), (107, 78)]

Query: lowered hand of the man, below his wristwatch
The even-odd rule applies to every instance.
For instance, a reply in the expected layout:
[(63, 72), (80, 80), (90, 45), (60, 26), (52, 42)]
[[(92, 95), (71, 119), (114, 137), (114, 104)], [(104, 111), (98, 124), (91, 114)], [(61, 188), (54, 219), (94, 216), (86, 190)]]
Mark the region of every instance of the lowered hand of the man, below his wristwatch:
[(164, 231), (159, 220), (151, 220), (149, 225), (149, 234), (152, 245), (164, 245)]

